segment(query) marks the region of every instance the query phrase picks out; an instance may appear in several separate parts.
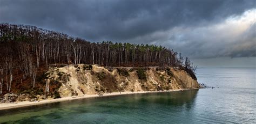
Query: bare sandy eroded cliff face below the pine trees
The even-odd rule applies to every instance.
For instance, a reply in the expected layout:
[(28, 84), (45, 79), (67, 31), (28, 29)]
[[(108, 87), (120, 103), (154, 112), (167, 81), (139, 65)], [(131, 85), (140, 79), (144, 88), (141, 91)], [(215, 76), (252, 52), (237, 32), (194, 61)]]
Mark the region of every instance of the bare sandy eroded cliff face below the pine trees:
[[(139, 73), (139, 74), (138, 74)], [(118, 91), (160, 91), (197, 89), (199, 84), (184, 70), (167, 68), (108, 70), (98, 65), (67, 65), (51, 68), (48, 82), (60, 82), (60, 97), (83, 96)], [(143, 76), (145, 76), (143, 78)]]

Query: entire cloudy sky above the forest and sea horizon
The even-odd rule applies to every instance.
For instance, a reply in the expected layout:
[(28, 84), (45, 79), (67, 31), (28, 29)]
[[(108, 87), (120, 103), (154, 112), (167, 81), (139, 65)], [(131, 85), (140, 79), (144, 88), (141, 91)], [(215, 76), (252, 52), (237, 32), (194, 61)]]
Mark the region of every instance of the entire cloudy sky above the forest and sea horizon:
[(254, 0), (0, 0), (0, 23), (161, 45), (199, 67), (256, 67)]

